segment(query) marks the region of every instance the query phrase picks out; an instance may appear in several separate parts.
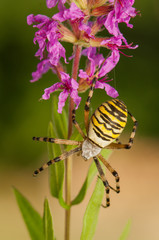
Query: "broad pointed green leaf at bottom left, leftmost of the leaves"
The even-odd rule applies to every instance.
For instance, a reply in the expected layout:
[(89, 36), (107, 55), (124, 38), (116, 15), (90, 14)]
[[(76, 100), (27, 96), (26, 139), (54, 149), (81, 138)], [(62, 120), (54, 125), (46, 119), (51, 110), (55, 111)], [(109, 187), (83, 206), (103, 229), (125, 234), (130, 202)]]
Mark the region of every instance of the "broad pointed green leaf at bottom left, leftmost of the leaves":
[(31, 239), (44, 240), (42, 217), (16, 188), (13, 190)]

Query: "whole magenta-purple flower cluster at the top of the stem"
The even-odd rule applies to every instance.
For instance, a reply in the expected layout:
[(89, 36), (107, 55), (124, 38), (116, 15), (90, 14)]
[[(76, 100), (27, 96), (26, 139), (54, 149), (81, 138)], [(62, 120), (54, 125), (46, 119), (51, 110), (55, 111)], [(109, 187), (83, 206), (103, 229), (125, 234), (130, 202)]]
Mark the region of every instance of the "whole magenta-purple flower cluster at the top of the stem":
[[(31, 81), (39, 80), (49, 69), (59, 78), (59, 82), (44, 90), (42, 99), (49, 99), (52, 92), (61, 90), (58, 112), (62, 112), (68, 95), (78, 108), (81, 100), (78, 94), (89, 88), (94, 77), (95, 88), (105, 89), (107, 95), (117, 97), (118, 92), (107, 83), (110, 81), (107, 74), (117, 65), (120, 49), (137, 47), (128, 44), (119, 30), (122, 22), (133, 27), (129, 21), (137, 15), (134, 0), (46, 0), (46, 4), (48, 8), (58, 4), (59, 12), (52, 18), (40, 14), (27, 17), (27, 23), (37, 28), (34, 43), (38, 43), (39, 49), (35, 56), (40, 59)], [(99, 36), (105, 29), (107, 36)], [(63, 42), (73, 45), (68, 59)], [(73, 79), (66, 72), (66, 66), (75, 58), (77, 47), (86, 64), (85, 69), (78, 69), (78, 79)]]

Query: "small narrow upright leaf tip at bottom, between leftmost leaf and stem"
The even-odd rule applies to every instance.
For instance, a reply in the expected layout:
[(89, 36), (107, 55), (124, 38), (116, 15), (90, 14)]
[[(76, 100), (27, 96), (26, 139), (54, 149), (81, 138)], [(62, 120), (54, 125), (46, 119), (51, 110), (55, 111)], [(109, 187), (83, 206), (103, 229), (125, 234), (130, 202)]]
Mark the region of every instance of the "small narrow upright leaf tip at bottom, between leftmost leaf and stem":
[(44, 202), (43, 226), (44, 226), (45, 240), (54, 240), (52, 217), (51, 217), (49, 203), (47, 199), (45, 199), (45, 202)]

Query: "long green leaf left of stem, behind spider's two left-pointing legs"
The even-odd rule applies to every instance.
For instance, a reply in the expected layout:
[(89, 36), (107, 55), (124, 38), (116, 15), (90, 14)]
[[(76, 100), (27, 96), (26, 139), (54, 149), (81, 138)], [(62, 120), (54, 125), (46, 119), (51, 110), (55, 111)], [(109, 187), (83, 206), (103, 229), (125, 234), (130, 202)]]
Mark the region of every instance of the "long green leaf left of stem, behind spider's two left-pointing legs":
[[(67, 116), (63, 109), (62, 114), (57, 112), (58, 100), (57, 96), (53, 96), (53, 114), (52, 122), (49, 124), (49, 137), (67, 139)], [(49, 159), (53, 159), (61, 155), (66, 146), (48, 143)], [(50, 167), (50, 190), (52, 196), (59, 199), (59, 203), (63, 208), (69, 209), (63, 199), (63, 182), (64, 182), (64, 161), (53, 164)]]

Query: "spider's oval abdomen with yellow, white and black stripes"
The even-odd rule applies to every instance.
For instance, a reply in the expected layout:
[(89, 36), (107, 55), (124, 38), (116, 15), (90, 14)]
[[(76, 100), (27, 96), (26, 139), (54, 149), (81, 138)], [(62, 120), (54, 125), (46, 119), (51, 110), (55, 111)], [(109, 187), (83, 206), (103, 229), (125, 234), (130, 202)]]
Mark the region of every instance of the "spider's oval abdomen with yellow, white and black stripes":
[(88, 137), (100, 147), (106, 147), (119, 137), (127, 122), (127, 107), (112, 99), (96, 109), (89, 122)]

